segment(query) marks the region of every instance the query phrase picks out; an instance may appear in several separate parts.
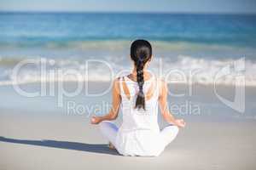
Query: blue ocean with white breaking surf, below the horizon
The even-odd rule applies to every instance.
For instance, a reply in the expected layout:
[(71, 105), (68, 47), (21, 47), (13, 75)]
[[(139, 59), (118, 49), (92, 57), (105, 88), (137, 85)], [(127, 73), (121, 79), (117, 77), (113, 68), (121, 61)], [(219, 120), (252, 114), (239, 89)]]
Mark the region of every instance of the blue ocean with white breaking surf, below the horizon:
[[(256, 85), (256, 15), (128, 13), (0, 13), (0, 84), (38, 82), (42, 62), (45, 81), (63, 81), (50, 77), (49, 71), (73, 69), (84, 75), (90, 59), (105, 64), (90, 62), (94, 71), (87, 71), (88, 79), (111, 80), (130, 69), (129, 48), (137, 38), (152, 43), (150, 69), (161, 70), (162, 77), (178, 69), (188, 79), (196, 70), (192, 82), (213, 83), (218, 71), (242, 60), (247, 85)], [(24, 59), (35, 64), (23, 66), (14, 78), (15, 65)], [(109, 73), (108, 67), (113, 74), (102, 74)], [(232, 79), (218, 83), (230, 84)]]

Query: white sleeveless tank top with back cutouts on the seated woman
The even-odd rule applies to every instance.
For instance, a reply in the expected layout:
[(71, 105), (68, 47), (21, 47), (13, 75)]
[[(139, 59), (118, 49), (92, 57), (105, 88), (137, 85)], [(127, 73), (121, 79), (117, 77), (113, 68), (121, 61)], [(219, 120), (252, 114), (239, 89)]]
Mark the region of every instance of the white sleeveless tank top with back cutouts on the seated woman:
[[(125, 94), (122, 82), (125, 81), (126, 87), (130, 92), (130, 99)], [(145, 101), (145, 111), (135, 108), (137, 99), (138, 84), (129, 77), (121, 77), (119, 81), (121, 95), (121, 111), (123, 122), (119, 127), (116, 138), (116, 148), (120, 154), (125, 156), (158, 156), (164, 150), (160, 144), (158, 135), (160, 127), (158, 125), (158, 98), (159, 81), (151, 77), (144, 82), (143, 93), (148, 94), (152, 83), (154, 84), (154, 94)]]

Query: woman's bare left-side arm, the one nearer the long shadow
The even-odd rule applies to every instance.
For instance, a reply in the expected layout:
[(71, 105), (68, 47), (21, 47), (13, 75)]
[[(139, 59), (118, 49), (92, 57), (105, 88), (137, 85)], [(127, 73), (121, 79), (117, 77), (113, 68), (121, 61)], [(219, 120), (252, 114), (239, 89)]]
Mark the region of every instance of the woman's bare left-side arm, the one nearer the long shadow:
[(121, 102), (120, 97), (120, 88), (119, 88), (119, 78), (113, 81), (113, 89), (112, 89), (112, 108), (105, 116), (92, 116), (91, 124), (98, 124), (102, 121), (112, 121), (116, 119), (119, 113), (119, 106)]

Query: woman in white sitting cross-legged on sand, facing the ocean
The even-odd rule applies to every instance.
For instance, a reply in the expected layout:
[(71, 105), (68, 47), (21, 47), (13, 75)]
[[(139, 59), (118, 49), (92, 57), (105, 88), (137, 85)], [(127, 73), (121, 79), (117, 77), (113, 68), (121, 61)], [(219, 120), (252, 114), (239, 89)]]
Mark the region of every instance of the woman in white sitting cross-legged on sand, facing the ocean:
[[(93, 116), (102, 134), (123, 156), (159, 156), (177, 136), (182, 119), (175, 119), (167, 108), (167, 85), (151, 75), (146, 68), (152, 59), (152, 48), (146, 40), (131, 43), (133, 71), (113, 82), (113, 107), (106, 116)], [(112, 121), (122, 106), (123, 122), (116, 127)], [(160, 131), (157, 121), (158, 105), (166, 122)]]

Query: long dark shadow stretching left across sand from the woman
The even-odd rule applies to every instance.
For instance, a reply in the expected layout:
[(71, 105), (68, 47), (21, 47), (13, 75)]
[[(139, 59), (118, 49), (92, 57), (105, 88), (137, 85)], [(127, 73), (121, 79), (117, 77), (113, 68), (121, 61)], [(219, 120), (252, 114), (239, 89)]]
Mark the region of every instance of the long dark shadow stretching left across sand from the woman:
[(79, 142), (68, 142), (58, 140), (27, 140), (27, 139), (9, 139), (0, 136), (0, 142), (9, 142), (14, 144), (31, 144), (45, 146), (50, 148), (59, 148), (67, 150), (80, 150), (93, 153), (108, 154), (118, 156), (116, 150), (109, 150), (107, 144), (84, 144)]

